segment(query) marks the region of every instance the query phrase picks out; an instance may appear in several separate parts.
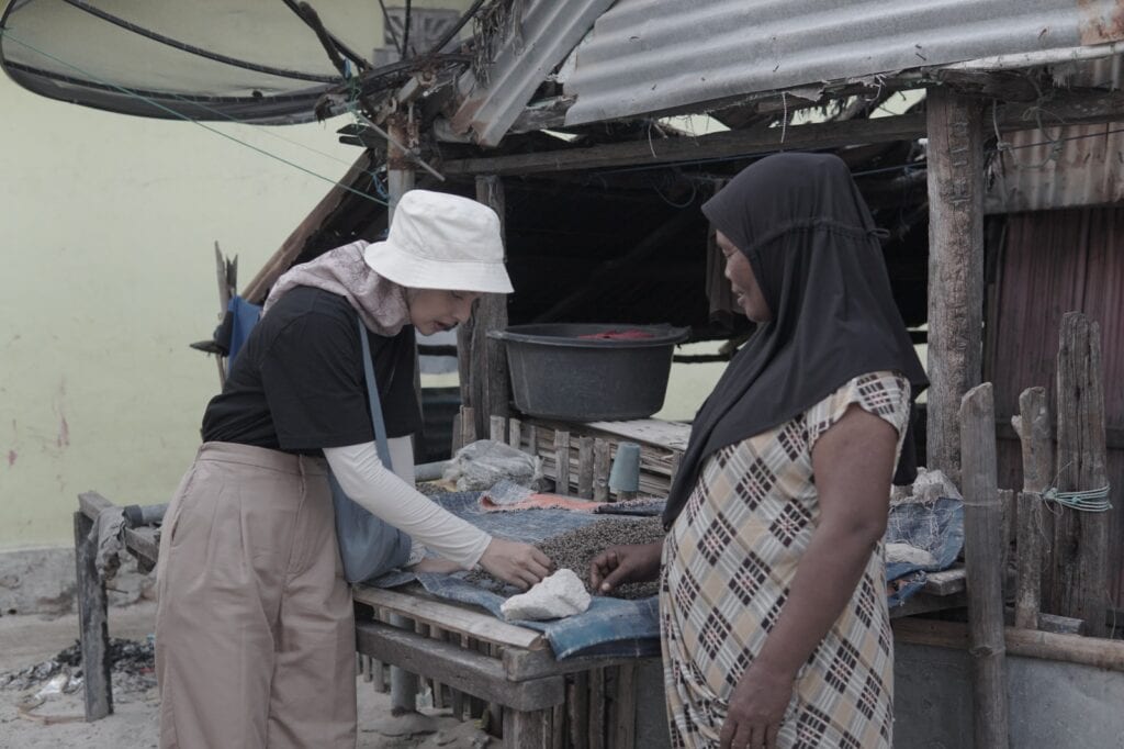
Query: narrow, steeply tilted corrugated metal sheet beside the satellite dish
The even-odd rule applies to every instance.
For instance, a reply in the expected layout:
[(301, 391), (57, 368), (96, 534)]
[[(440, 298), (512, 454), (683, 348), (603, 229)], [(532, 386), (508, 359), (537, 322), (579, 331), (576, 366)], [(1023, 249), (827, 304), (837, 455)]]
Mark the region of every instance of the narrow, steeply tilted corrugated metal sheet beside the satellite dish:
[(457, 87), (466, 98), (452, 117), (456, 133), (471, 130), (481, 145), (497, 145), (535, 89), (565, 60), (613, 0), (534, 0), (523, 11), (518, 33), (508, 35), (483, 85), (465, 73)]

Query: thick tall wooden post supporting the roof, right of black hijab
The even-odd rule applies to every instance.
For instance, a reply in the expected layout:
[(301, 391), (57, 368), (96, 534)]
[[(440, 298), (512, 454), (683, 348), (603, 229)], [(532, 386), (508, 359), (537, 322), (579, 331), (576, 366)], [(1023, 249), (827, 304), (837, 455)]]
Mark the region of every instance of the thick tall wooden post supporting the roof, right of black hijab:
[[(981, 106), (930, 89), (927, 463), (959, 484), (960, 399), (980, 381), (984, 327)], [(995, 426), (992, 425), (992, 431)]]

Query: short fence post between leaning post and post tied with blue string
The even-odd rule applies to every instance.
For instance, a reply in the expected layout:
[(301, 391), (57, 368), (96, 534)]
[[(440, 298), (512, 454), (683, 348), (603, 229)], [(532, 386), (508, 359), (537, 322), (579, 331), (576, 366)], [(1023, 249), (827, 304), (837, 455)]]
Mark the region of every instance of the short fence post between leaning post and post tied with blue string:
[(1045, 388), (1023, 390), (1018, 410), (1010, 419), (1023, 445), (1023, 490), (1016, 505), (1015, 626), (1036, 630), (1042, 610), (1042, 493), (1050, 487), (1053, 462)]

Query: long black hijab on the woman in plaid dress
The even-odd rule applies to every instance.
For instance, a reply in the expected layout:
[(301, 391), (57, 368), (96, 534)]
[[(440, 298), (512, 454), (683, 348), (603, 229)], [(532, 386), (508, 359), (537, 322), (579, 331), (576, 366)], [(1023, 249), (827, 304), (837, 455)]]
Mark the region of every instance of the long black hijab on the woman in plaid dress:
[[(703, 213), (749, 259), (772, 321), (734, 355), (699, 408), (665, 527), (687, 504), (703, 462), (722, 448), (783, 424), (867, 372), (900, 372), (914, 397), (928, 386), (890, 294), (873, 219), (837, 156), (762, 159)], [(910, 460), (903, 450), (899, 472)]]

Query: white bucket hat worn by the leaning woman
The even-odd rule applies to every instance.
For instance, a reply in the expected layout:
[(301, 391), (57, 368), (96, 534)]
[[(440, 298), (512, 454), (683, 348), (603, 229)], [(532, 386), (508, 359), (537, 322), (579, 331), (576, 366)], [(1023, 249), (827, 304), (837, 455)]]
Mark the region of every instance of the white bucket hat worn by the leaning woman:
[(410, 190), (398, 201), (386, 242), (368, 246), (374, 272), (414, 289), (510, 294), (499, 217), (483, 204)]

